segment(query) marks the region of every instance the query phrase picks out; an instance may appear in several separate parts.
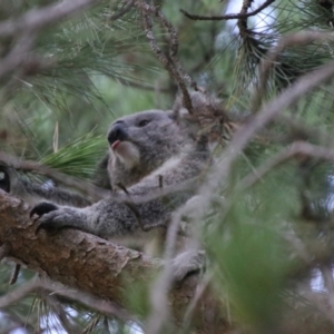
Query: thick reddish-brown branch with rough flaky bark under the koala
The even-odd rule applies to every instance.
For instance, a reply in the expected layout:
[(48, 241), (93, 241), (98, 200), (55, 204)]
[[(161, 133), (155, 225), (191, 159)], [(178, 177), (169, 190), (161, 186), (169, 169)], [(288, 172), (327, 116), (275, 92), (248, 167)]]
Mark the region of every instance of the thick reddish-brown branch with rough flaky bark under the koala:
[[(29, 219), (29, 207), (23, 202), (0, 190), (0, 242), (7, 244), (9, 257), (51, 279), (111, 299), (128, 308), (130, 288), (148, 282), (161, 268), (161, 263), (143, 253), (75, 229), (56, 235), (41, 230)], [(193, 275), (170, 291), (170, 306), (175, 323), (180, 325), (184, 312), (195, 295), (198, 277)], [(127, 292), (127, 293), (126, 293)], [(217, 304), (205, 294), (196, 318), (197, 333), (212, 331)], [(129, 310), (134, 312), (135, 310)], [(136, 312), (136, 311), (135, 311)], [(215, 322), (215, 332), (224, 333), (226, 322)]]

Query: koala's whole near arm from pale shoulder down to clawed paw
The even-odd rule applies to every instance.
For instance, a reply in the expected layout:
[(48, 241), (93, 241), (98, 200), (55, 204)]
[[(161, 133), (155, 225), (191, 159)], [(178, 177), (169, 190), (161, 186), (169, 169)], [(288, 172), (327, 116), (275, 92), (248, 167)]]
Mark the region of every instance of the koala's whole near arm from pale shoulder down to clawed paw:
[(163, 179), (163, 189), (164, 184), (166, 185), (165, 189), (167, 189), (167, 193), (170, 189), (170, 193), (164, 197), (145, 200), (146, 196), (158, 194), (161, 190), (159, 170), (146, 177), (139, 184), (128, 188), (129, 202), (132, 199), (131, 203), (136, 208), (136, 213), (126, 203), (109, 198), (86, 208), (50, 206), (49, 213), (46, 213), (47, 206), (40, 204), (32, 209), (31, 215), (37, 214), (41, 216), (39, 218), (39, 229), (57, 230), (62, 227), (73, 227), (101, 237), (117, 237), (137, 233), (141, 229), (138, 216), (141, 225), (145, 227), (164, 226), (168, 223), (171, 213), (186, 203), (194, 190), (189, 189), (188, 184), (187, 189), (183, 190), (175, 190), (174, 186), (179, 187), (184, 183), (186, 184), (187, 180), (198, 176), (202, 169), (202, 161), (194, 164), (194, 159), (188, 157), (186, 160), (176, 163), (173, 168), (161, 170), (164, 171), (160, 178)]

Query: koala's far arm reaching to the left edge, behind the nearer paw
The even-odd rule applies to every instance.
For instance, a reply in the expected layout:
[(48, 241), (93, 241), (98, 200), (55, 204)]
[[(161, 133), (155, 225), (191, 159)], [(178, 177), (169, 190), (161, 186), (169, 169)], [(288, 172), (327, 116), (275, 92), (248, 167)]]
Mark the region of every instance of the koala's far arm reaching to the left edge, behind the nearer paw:
[(0, 166), (0, 188), (27, 202), (36, 205), (47, 199), (59, 205), (72, 205), (76, 207), (85, 207), (91, 202), (76, 193), (71, 193), (52, 185), (42, 185), (32, 183), (20, 177), (20, 174), (11, 167)]

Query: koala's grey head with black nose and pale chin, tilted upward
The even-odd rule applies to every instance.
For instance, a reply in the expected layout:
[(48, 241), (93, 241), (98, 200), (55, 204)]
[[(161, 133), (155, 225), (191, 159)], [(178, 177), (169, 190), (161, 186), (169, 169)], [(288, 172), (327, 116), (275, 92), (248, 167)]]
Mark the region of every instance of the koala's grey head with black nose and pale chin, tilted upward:
[(108, 131), (111, 183), (138, 181), (170, 157), (189, 150), (195, 139), (173, 111), (148, 110), (117, 119)]

